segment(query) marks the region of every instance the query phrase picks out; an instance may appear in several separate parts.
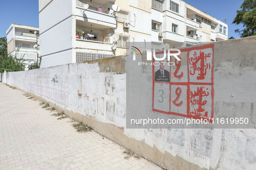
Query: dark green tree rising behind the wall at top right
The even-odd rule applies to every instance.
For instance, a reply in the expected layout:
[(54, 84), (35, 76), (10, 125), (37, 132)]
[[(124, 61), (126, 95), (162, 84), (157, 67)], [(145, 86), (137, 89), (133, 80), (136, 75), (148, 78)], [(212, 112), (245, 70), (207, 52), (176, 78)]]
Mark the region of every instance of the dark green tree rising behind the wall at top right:
[(244, 0), (239, 8), (232, 24), (243, 24), (244, 28), (236, 29), (235, 32), (241, 38), (256, 35), (256, 0)]

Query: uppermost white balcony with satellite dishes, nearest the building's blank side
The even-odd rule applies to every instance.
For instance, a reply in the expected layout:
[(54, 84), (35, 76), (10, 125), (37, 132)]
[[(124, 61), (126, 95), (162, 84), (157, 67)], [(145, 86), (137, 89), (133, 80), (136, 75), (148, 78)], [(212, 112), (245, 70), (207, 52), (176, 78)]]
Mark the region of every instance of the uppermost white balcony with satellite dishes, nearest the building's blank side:
[[(94, 25), (94, 28), (105, 30), (108, 28), (116, 28), (116, 17), (104, 13), (103, 9), (99, 7), (90, 6), (84, 11), (83, 6), (85, 3), (82, 3), (77, 0), (76, 6), (76, 19), (77, 21), (86, 22), (86, 25)], [(109, 6), (110, 8), (110, 6)], [(101, 11), (100, 11), (101, 10)]]

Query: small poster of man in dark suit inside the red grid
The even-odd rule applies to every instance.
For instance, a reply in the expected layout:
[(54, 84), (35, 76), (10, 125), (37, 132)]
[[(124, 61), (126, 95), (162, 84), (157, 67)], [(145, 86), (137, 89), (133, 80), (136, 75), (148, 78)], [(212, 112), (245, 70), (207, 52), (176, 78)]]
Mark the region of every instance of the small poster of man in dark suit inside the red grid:
[(170, 82), (170, 72), (167, 71), (165, 68), (164, 60), (159, 61), (160, 69), (155, 72), (155, 82)]

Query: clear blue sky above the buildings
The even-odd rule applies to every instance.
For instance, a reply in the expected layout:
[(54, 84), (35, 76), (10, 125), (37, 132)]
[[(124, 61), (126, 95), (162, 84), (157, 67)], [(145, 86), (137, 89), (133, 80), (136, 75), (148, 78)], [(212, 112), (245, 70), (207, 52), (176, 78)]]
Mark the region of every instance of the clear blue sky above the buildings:
[[(243, 0), (184, 0), (186, 3), (206, 12), (210, 16), (228, 25), (228, 38), (240, 38), (234, 32), (235, 29), (243, 28), (243, 25), (232, 24), (236, 17), (239, 6)], [(38, 0), (0, 0), (1, 24), (0, 38), (6, 37), (6, 31), (12, 23), (39, 27)]]

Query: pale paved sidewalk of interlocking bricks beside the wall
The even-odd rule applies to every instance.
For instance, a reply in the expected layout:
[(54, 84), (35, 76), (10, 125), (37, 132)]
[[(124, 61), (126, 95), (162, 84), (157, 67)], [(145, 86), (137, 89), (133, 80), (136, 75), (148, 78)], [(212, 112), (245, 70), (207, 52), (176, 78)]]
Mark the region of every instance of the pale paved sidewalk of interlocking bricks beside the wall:
[(0, 82), (0, 170), (161, 170), (96, 132), (78, 133), (71, 119)]

